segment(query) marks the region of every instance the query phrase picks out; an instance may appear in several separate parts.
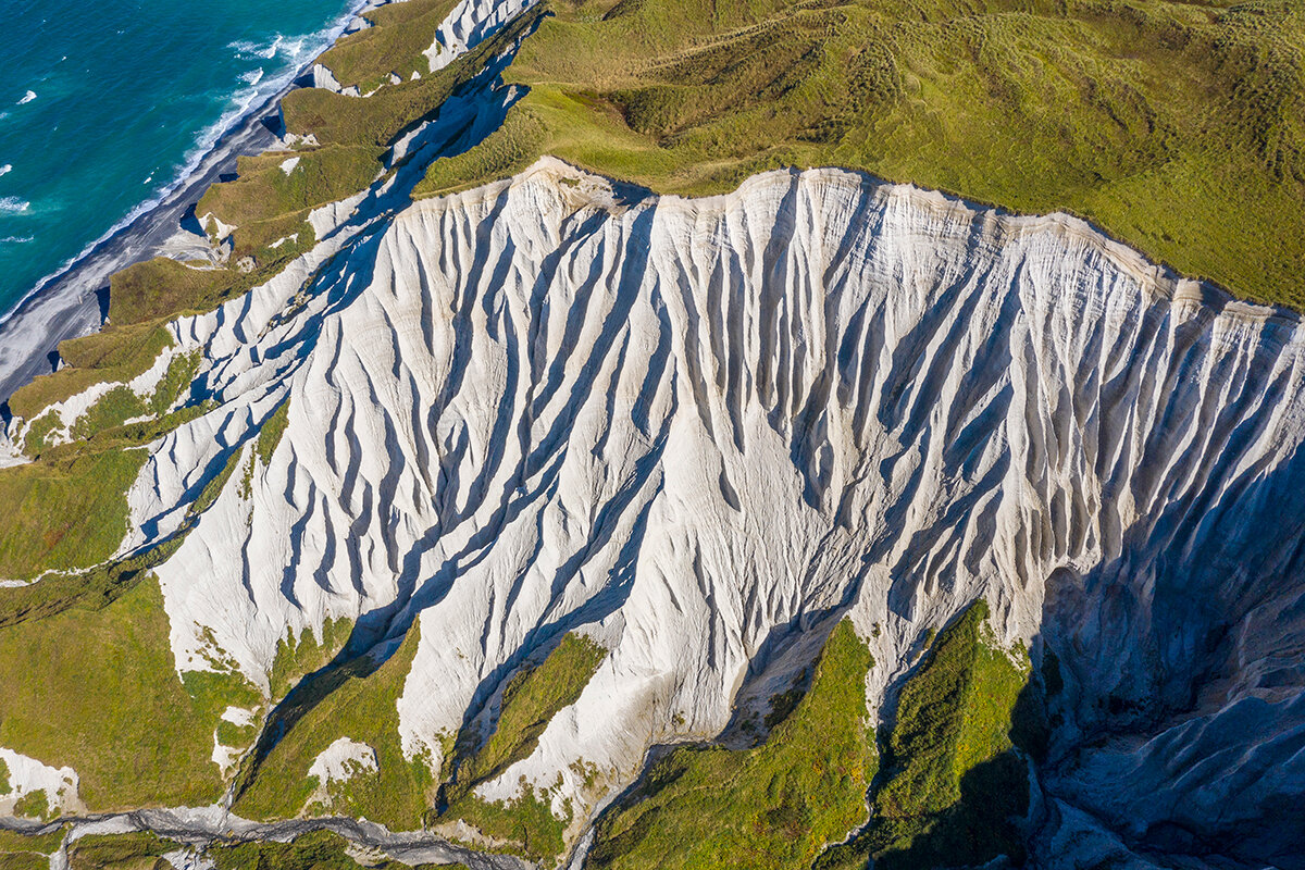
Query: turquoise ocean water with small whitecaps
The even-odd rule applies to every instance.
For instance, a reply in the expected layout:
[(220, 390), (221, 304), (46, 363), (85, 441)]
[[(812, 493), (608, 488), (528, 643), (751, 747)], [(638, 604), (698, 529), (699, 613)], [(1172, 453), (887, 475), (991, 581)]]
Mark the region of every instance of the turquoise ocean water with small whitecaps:
[(174, 187), (358, 5), (0, 1), (0, 317)]

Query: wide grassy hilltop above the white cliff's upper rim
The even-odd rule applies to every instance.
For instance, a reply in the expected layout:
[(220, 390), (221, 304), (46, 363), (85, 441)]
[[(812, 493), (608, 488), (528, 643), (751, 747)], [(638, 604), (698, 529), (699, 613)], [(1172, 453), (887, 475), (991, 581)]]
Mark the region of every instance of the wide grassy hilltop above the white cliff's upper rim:
[(553, 154), (702, 194), (844, 166), (1067, 210), (1235, 293), (1305, 304), (1305, 9), (1167, 0), (551, 0), (530, 87), (418, 194)]

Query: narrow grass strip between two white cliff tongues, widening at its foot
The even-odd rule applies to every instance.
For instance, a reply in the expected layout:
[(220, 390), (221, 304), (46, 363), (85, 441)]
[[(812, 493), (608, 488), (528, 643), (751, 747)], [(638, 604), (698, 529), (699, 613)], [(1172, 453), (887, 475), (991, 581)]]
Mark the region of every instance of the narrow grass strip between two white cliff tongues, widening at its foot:
[(489, 836), (517, 843), (522, 854), (535, 861), (560, 854), (570, 813), (565, 818), (553, 815), (552, 790), (538, 793), (522, 781), (517, 798), (497, 803), (472, 790), (535, 751), (548, 723), (557, 711), (576, 703), (606, 656), (607, 650), (594, 640), (566, 634), (543, 663), (513, 676), (484, 745), (476, 747), (471, 733), (458, 737), (455, 746), (461, 751), (450, 764), (453, 779), (444, 787), (445, 817), (465, 819)]

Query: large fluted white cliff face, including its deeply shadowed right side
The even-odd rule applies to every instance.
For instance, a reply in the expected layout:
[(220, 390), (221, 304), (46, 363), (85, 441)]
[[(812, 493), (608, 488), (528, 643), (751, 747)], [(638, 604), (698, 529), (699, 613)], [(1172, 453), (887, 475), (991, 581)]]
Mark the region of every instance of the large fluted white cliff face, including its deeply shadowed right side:
[(878, 716), (983, 597), (1065, 683), (1035, 860), (1302, 866), (1296, 322), (1062, 215), (833, 170), (655, 198), (545, 160), (172, 330), (218, 407), (154, 446), (128, 544), (239, 457), (157, 571), (183, 670), (217, 647), (265, 686), (287, 631), (347, 617), (385, 655), (418, 626), (399, 730), (438, 770), (587, 634), (579, 699), (479, 790), (560, 776), (587, 817), (574, 762), (620, 790), (848, 613)]

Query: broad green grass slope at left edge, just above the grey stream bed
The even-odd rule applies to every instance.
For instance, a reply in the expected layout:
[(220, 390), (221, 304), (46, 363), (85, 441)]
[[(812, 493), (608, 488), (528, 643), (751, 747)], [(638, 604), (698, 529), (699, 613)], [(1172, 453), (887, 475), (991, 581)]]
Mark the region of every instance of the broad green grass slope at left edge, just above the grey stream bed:
[(0, 629), (0, 745), (74, 768), (91, 811), (215, 801), (213, 730), (260, 698), (235, 674), (183, 683), (168, 634), (153, 578), (99, 609)]

